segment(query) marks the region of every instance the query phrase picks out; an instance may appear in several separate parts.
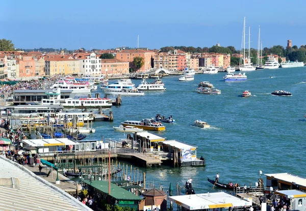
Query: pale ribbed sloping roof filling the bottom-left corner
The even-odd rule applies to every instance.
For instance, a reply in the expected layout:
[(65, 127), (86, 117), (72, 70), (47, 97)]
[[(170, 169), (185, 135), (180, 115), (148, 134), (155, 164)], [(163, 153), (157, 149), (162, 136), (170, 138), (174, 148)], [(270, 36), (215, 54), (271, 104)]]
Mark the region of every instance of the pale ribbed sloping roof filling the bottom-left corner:
[(1, 210), (92, 210), (52, 183), (2, 155), (0, 181)]

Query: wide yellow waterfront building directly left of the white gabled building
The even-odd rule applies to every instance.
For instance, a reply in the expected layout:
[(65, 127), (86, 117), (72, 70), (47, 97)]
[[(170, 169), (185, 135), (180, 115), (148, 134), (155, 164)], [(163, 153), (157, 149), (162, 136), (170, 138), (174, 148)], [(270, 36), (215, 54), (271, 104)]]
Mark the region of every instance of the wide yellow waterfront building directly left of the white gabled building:
[(49, 57), (45, 62), (46, 75), (75, 75), (80, 73), (80, 61), (68, 58)]

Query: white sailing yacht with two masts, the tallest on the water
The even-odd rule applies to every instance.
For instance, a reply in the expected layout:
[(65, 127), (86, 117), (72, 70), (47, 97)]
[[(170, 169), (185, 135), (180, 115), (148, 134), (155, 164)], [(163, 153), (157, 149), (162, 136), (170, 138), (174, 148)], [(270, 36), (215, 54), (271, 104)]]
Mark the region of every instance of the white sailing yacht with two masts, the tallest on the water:
[(242, 50), (243, 50), (243, 57), (240, 57), (241, 66), (239, 66), (239, 70), (240, 71), (256, 70), (256, 67), (254, 67), (251, 63), (251, 58), (250, 58), (250, 28), (249, 28), (249, 39), (248, 39), (248, 58), (245, 57), (245, 17), (244, 17), (244, 20), (243, 20), (243, 36), (242, 36), (241, 50), (240, 51), (242, 52)]

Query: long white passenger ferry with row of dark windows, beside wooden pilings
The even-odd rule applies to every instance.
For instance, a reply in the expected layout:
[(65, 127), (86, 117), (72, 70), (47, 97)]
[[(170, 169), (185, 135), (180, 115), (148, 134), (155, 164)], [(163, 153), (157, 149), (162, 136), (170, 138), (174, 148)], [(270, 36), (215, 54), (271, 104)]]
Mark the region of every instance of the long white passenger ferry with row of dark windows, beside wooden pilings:
[(64, 108), (110, 108), (113, 104), (110, 98), (68, 98), (61, 105)]

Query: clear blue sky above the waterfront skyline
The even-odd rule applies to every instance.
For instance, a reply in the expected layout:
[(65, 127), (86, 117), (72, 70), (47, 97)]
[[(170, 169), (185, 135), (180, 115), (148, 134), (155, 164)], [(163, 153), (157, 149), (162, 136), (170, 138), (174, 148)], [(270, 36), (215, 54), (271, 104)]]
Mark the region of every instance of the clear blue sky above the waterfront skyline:
[(21, 1), (3, 0), (0, 38), (16, 48), (108, 49), (119, 46), (240, 49), (243, 17), (251, 27), (251, 47), (305, 45), (306, 1)]

